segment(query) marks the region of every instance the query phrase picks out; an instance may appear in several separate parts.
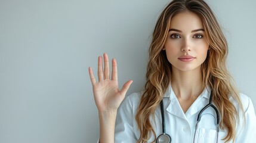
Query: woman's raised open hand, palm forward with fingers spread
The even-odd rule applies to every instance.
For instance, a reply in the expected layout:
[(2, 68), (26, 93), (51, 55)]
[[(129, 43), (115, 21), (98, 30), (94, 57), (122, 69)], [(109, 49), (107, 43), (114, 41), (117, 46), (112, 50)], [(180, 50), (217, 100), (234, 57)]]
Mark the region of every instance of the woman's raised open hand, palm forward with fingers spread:
[(116, 60), (114, 58), (112, 60), (112, 76), (110, 79), (109, 58), (106, 53), (103, 54), (103, 57), (104, 70), (102, 57), (98, 57), (98, 83), (94, 77), (91, 67), (89, 67), (94, 100), (99, 113), (116, 111), (124, 100), (125, 94), (132, 83), (132, 80), (129, 80), (124, 84), (121, 91), (119, 91), (118, 67)]

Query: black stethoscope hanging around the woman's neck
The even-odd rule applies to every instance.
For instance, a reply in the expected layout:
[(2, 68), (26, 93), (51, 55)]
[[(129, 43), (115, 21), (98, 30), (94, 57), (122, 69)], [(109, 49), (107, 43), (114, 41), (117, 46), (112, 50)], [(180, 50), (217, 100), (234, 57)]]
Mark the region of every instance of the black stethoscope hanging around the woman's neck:
[[(169, 136), (167, 133), (165, 133), (165, 113), (164, 113), (164, 103), (163, 101), (160, 102), (160, 107), (161, 107), (161, 115), (162, 115), (162, 134), (158, 136), (156, 139), (156, 143), (170, 143), (171, 142), (171, 136)], [(217, 123), (216, 123), (216, 128), (217, 128), (217, 140), (218, 142), (218, 132), (220, 131), (220, 115), (218, 114), (217, 108), (212, 104), (212, 91), (210, 95), (210, 100), (205, 107), (202, 108), (202, 110), (198, 114), (198, 119), (196, 120), (196, 127), (195, 127), (195, 134), (194, 134), (194, 139), (193, 142), (195, 142), (195, 136), (196, 136), (196, 130), (198, 129), (198, 124), (201, 120), (202, 113), (205, 111), (206, 108), (212, 107), (215, 110), (216, 117), (217, 117)]]

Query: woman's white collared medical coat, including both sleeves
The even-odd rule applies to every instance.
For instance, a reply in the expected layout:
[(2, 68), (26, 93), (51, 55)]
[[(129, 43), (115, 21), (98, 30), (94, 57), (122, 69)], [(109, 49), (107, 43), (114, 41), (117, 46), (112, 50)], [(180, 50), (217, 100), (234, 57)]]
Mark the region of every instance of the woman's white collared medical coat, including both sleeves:
[[(199, 111), (209, 103), (210, 92), (205, 88), (201, 95), (190, 106), (186, 113), (183, 112), (180, 103), (177, 100), (171, 86), (166, 90), (164, 95), (164, 111), (165, 111), (165, 130), (171, 136), (172, 142), (187, 143), (193, 142), (195, 133), (196, 118)], [(115, 126), (115, 142), (132, 143), (137, 142), (140, 137), (135, 116), (137, 107), (140, 102), (141, 93), (134, 93), (125, 98), (118, 110)], [(243, 124), (242, 112), (239, 113), (240, 122), (236, 126), (235, 142), (256, 142), (256, 117), (252, 101), (246, 95), (240, 94), (243, 108), (245, 111), (246, 123)], [(234, 101), (235, 107), (239, 109), (238, 104)], [(240, 110), (238, 110), (240, 111)], [(162, 134), (162, 119), (160, 106), (155, 112), (156, 125), (151, 120), (152, 126), (156, 133), (156, 138)], [(203, 111), (201, 122), (199, 122), (196, 133), (195, 142), (216, 142), (216, 121), (215, 111), (209, 107)], [(221, 119), (221, 117), (220, 117)], [(240, 125), (240, 126), (239, 126)], [(224, 142), (226, 131), (221, 130), (218, 133), (218, 142)], [(152, 142), (152, 135), (148, 142)]]

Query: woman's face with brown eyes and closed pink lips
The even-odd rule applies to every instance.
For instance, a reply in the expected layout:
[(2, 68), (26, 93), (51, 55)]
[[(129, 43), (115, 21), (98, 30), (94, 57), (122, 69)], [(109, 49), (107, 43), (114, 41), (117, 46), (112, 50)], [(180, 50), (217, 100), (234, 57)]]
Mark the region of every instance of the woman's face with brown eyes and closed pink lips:
[(201, 18), (185, 11), (171, 18), (164, 49), (172, 70), (200, 71), (209, 44)]

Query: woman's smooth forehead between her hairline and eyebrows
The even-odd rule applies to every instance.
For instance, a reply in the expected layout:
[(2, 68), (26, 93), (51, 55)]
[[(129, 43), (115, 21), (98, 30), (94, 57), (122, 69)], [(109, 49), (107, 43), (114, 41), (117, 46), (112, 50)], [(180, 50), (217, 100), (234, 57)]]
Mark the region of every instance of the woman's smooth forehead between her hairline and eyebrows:
[(191, 32), (195, 29), (203, 29), (203, 23), (197, 14), (190, 11), (184, 11), (171, 18), (169, 29)]

